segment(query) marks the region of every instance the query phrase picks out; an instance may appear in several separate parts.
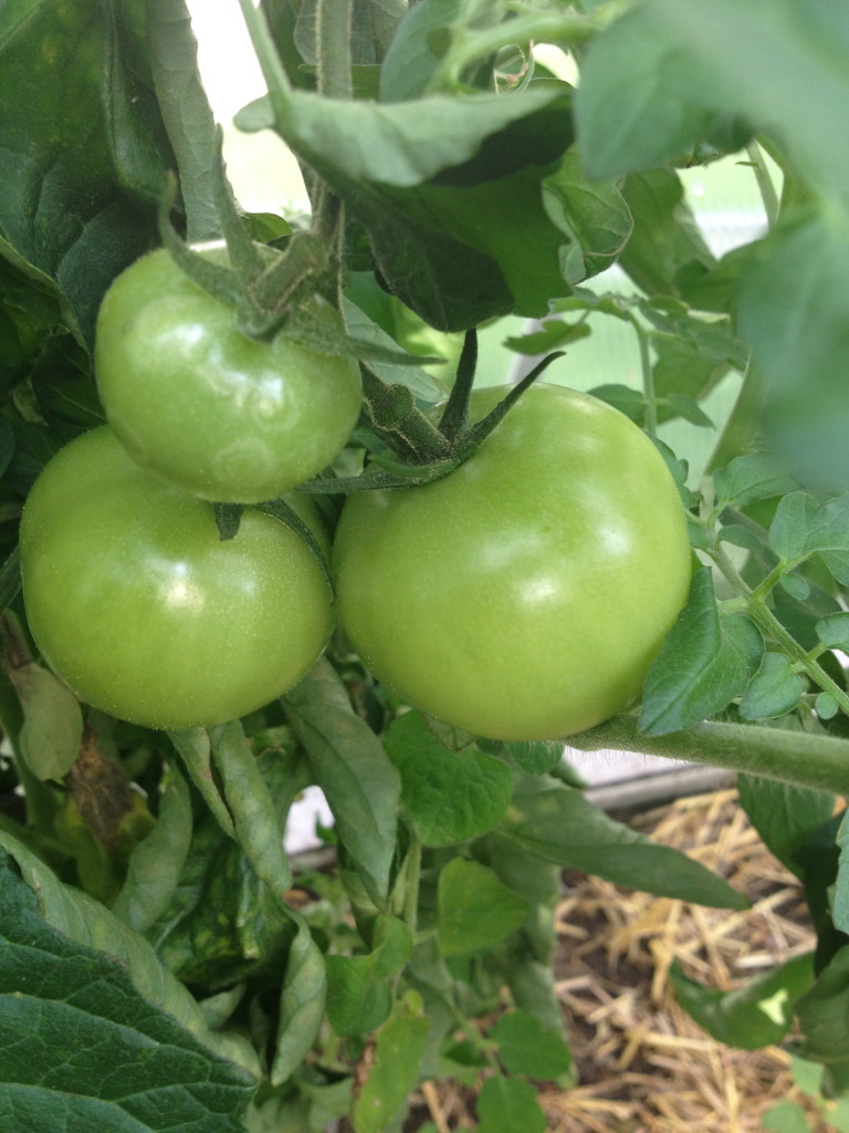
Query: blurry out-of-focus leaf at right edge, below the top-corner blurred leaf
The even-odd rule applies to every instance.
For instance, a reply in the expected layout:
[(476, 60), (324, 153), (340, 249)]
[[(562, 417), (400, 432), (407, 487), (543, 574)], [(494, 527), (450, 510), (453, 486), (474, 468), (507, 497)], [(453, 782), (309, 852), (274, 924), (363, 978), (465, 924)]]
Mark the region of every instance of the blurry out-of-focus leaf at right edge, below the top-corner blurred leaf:
[(758, 424), (803, 485), (846, 491), (849, 231), (824, 212), (797, 214), (756, 250), (740, 279), (739, 325), (765, 378)]

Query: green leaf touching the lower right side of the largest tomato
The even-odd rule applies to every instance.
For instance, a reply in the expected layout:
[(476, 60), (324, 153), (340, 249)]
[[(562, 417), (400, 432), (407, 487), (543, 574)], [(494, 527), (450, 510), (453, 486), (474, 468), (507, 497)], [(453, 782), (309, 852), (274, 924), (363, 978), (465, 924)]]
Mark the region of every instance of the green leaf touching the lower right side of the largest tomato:
[(753, 623), (722, 613), (710, 568), (696, 571), (687, 605), (649, 670), (641, 730), (664, 735), (720, 712), (744, 690), (762, 656)]

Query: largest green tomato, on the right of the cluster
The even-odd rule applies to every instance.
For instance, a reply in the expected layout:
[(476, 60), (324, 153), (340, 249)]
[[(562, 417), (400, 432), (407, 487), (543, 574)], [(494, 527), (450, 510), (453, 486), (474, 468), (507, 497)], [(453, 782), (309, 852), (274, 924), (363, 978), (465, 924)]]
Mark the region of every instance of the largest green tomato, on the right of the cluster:
[[(477, 393), (473, 416), (505, 393)], [(353, 647), (394, 693), (477, 735), (543, 740), (638, 696), (691, 554), (645, 434), (540, 384), (449, 476), (352, 495), (334, 576)]]

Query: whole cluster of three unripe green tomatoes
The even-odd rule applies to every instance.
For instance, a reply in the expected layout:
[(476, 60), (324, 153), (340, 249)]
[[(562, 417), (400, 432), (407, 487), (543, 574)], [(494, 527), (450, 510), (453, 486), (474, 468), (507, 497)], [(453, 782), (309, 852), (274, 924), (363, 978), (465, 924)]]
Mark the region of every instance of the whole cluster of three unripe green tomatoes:
[[(314, 315), (335, 325), (318, 299)], [(359, 410), (350, 359), (232, 313), (157, 252), (113, 283), (96, 373), (110, 425), (48, 465), (24, 510), (24, 597), (46, 661), (86, 702), (152, 727), (221, 723), (291, 688), (336, 610), (305, 542), (246, 508), (331, 462)], [(483, 417), (506, 390), (472, 398)], [(638, 696), (687, 595), (672, 478), (597, 399), (537, 384), (424, 486), (354, 492), (332, 554), (350, 641), (392, 692), (500, 740), (590, 727)]]

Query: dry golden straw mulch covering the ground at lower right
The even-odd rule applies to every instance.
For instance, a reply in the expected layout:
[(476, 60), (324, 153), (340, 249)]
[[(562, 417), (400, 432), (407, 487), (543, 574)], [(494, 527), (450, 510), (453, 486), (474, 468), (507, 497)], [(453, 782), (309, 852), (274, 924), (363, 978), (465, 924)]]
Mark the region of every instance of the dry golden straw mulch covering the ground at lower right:
[[(814, 936), (797, 879), (763, 846), (732, 790), (678, 800), (631, 819), (655, 841), (715, 870), (752, 901), (744, 912), (705, 909), (566, 877), (557, 913), (557, 990), (578, 1084), (542, 1089), (549, 1133), (755, 1133), (787, 1098), (806, 1107), (778, 1047), (714, 1042), (678, 1006), (677, 962), (723, 990), (807, 952)], [(431, 1083), (422, 1099), (439, 1133), (475, 1128), (468, 1094)]]

